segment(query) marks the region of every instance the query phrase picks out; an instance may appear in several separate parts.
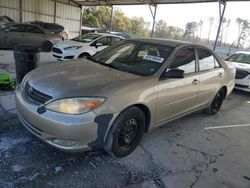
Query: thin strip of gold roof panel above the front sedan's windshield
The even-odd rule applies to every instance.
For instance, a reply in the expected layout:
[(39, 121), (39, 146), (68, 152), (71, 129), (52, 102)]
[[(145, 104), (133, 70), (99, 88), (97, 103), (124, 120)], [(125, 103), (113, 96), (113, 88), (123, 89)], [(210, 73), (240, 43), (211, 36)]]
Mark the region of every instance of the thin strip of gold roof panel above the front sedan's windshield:
[[(159, 45), (167, 45), (171, 47), (177, 47), (180, 45), (196, 45), (191, 42), (170, 40), (170, 39), (163, 39), (163, 38), (133, 38), (133, 39), (127, 39), (127, 40), (145, 42), (145, 43), (153, 43), (153, 44), (159, 44)], [(201, 45), (196, 45), (196, 46), (201, 46)]]

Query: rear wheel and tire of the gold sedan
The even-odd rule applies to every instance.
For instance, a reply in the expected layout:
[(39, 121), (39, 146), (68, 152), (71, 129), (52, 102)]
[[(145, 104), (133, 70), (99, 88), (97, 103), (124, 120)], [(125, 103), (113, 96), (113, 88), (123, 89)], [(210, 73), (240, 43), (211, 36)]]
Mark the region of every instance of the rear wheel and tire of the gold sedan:
[(220, 110), (223, 100), (225, 99), (225, 89), (220, 89), (219, 92), (215, 95), (212, 103), (209, 108), (205, 110), (205, 112), (209, 115), (215, 115)]

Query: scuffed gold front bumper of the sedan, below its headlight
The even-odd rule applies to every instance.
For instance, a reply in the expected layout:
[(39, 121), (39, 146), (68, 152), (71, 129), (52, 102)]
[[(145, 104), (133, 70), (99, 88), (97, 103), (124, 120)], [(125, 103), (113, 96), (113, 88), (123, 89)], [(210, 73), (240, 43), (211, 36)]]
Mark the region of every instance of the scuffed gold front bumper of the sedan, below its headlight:
[[(19, 90), (16, 91), (18, 116), (24, 127), (48, 144), (64, 151), (78, 152), (93, 149), (98, 139), (98, 123), (94, 112), (81, 115), (66, 115), (46, 110), (37, 113), (38, 105), (27, 100)], [(77, 141), (75, 145), (57, 144), (55, 139)], [(99, 142), (100, 143), (100, 142)]]

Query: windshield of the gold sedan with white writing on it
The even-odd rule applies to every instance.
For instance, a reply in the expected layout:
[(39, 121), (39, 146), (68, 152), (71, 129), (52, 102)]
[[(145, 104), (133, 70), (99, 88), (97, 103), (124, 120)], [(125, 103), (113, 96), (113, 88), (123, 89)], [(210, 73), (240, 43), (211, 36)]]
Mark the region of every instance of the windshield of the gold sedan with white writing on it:
[(122, 41), (91, 58), (96, 63), (141, 76), (153, 75), (169, 57), (173, 47)]

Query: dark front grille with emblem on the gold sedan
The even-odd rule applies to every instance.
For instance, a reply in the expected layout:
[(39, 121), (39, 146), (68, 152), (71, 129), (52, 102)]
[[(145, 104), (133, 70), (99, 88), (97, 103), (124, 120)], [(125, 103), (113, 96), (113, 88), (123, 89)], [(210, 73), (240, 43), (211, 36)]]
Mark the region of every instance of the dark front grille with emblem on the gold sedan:
[(32, 101), (39, 103), (39, 104), (44, 104), (47, 101), (49, 101), (50, 99), (52, 99), (51, 96), (46, 95), (46, 94), (34, 89), (33, 87), (31, 87), (28, 82), (25, 84), (24, 90), (25, 90), (26, 96), (29, 99), (31, 99)]

